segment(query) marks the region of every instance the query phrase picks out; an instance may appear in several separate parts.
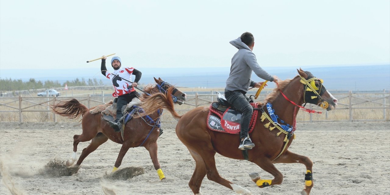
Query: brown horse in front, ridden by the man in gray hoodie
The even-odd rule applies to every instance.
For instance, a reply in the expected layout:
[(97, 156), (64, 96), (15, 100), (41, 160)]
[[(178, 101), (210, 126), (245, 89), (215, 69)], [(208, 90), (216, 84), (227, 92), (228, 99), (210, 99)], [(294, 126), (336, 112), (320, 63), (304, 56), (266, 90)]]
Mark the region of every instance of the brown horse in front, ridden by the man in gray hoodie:
[[(330, 94), (322, 85), (322, 80), (315, 78), (310, 72), (298, 70), (299, 75), (292, 80), (284, 80), (278, 83), (278, 87), (273, 90), (265, 100), (265, 103), (271, 103), (273, 109), (285, 124), (291, 124), (295, 130), (295, 116), (299, 108), (297, 105), (303, 103), (312, 103), (321, 105), (327, 110), (332, 110), (337, 105), (337, 99)], [(284, 97), (284, 95), (285, 97)], [(289, 99), (289, 101), (287, 100)], [(168, 99), (169, 100), (169, 99)], [(149, 99), (149, 101), (153, 101)], [(157, 100), (156, 100), (157, 102)], [(157, 104), (156, 102), (144, 102), (144, 104)], [(295, 103), (296, 105), (294, 105)], [(148, 112), (155, 110), (156, 106), (144, 108)], [(298, 108), (298, 109), (297, 109)], [(260, 108), (259, 108), (260, 109)], [(200, 195), (200, 185), (203, 178), (215, 181), (237, 194), (251, 194), (250, 191), (223, 179), (215, 166), (215, 154), (226, 156), (228, 158), (244, 160), (243, 151), (238, 149), (240, 142), (239, 136), (229, 133), (220, 133), (207, 128), (208, 107), (195, 108), (183, 116), (177, 116), (173, 109), (168, 109), (172, 115), (176, 115), (179, 122), (176, 125), (176, 135), (181, 142), (188, 148), (190, 154), (195, 160), (195, 170), (189, 182), (189, 186), (194, 194)], [(265, 111), (264, 111), (265, 110)], [(262, 112), (268, 114), (267, 109)], [(281, 184), (283, 175), (273, 165), (274, 163), (303, 163), (306, 166), (307, 174), (305, 175), (305, 188), (303, 194), (309, 194), (313, 187), (312, 183), (312, 161), (306, 157), (294, 154), (288, 150), (289, 145), (294, 137), (293, 132), (285, 133), (285, 136), (279, 136), (282, 131), (273, 130), (282, 122), (272, 122), (271, 118), (261, 120), (265, 115), (255, 123), (254, 130), (250, 133), (252, 142), (256, 145), (253, 149), (247, 151), (247, 160), (257, 164), (263, 170), (274, 176), (274, 179), (260, 179), (258, 173), (251, 173), (250, 177), (260, 188)], [(264, 122), (264, 123), (262, 123)], [(270, 122), (270, 123), (269, 123)], [(267, 124), (268, 123), (268, 124)], [(264, 125), (267, 124), (267, 125)], [(269, 128), (269, 129), (268, 129)], [(284, 134), (282, 134), (284, 135)]]

